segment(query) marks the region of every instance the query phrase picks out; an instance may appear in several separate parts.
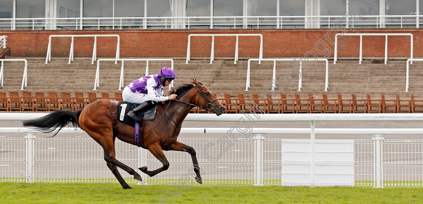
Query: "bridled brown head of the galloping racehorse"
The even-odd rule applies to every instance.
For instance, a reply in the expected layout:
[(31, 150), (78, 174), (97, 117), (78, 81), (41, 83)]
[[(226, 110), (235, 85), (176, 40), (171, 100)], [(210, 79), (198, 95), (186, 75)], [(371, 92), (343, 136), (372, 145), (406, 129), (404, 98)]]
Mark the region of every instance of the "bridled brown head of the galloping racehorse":
[(194, 84), (198, 97), (194, 100), (194, 103), (198, 106), (204, 107), (207, 111), (214, 112), (216, 115), (221, 115), (225, 113), (225, 107), (218, 101), (215, 94), (213, 94), (207, 87), (197, 82), (193, 79), (192, 84)]

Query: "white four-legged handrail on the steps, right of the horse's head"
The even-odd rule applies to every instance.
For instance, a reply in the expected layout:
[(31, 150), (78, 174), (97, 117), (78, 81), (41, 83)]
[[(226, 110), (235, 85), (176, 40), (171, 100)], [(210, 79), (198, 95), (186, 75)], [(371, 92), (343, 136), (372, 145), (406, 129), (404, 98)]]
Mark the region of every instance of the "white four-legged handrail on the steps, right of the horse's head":
[[(248, 60), (248, 66), (247, 66), (247, 82), (245, 84), (245, 91), (248, 91), (248, 88), (250, 87), (250, 62), (251, 61), (273, 61), (273, 77), (272, 77), (272, 91), (274, 91), (274, 88), (276, 87), (276, 61), (300, 61), (300, 79), (298, 83), (298, 91), (301, 91), (302, 87), (302, 81), (303, 81), (303, 74), (302, 74), (302, 63), (304, 59), (249, 59)], [(329, 62), (327, 59), (315, 59), (316, 61), (325, 61), (326, 62), (326, 70), (325, 70), (325, 90), (327, 91), (328, 81), (329, 81)]]

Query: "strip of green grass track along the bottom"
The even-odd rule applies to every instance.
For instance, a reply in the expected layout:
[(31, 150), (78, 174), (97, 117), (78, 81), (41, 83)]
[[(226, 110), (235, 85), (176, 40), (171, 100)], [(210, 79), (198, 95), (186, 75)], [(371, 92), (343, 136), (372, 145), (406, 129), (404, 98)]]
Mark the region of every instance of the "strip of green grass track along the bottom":
[(207, 186), (0, 182), (0, 203), (423, 203), (423, 188)]

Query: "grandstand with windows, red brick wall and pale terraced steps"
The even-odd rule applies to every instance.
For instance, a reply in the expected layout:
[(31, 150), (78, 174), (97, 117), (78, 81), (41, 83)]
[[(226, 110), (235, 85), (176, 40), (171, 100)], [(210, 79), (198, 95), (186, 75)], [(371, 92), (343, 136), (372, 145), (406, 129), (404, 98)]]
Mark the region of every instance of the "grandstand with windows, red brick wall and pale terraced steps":
[[(96, 93), (98, 98), (101, 98), (100, 93), (107, 93), (110, 98), (119, 96), (118, 76), (121, 65), (113, 62), (101, 63), (100, 86), (97, 90), (93, 90), (96, 69), (96, 65), (91, 64), (90, 58), (93, 54), (93, 38), (75, 38), (75, 44), (72, 40), (74, 45), (72, 50), (76, 57), (72, 64), (67, 64), (71, 47), (70, 39), (52, 40), (52, 61), (48, 64), (44, 63), (47, 42), (51, 35), (119, 35), (120, 58), (173, 59), (174, 69), (180, 77), (174, 81), (175, 86), (196, 78), (216, 93), (223, 103), (236, 103), (239, 106), (238, 94), (243, 94), (246, 99), (253, 98), (257, 94), (260, 99), (258, 102), (267, 103), (264, 106), (269, 108), (271, 104), (268, 104), (269, 101), (261, 90), (271, 85), (273, 62), (252, 63), (251, 84), (248, 91), (245, 90), (247, 60), (259, 56), (258, 37), (240, 36), (239, 45), (238, 37), (237, 44), (235, 37), (214, 37), (213, 46), (211, 37), (195, 37), (190, 40), (189, 64), (185, 63), (187, 37), (190, 34), (260, 34), (263, 36), (263, 58), (304, 58), (305, 54), (313, 52), (317, 57), (329, 60), (327, 91), (324, 91), (325, 67), (318, 62), (312, 65), (309, 71), (303, 71), (301, 91), (297, 81), (291, 83), (292, 87), (280, 84), (280, 88), (287, 91), (285, 95), (280, 95), (282, 92), (276, 88), (272, 98), (279, 99), (279, 107), (273, 107), (277, 109), (273, 112), (281, 112), (282, 102), (290, 103), (296, 95), (299, 95), (303, 103), (308, 104), (310, 110), (312, 98), (309, 95), (313, 97), (315, 103), (321, 103), (322, 106), (327, 105), (323, 101), (323, 95), (327, 95), (329, 101), (335, 101), (338, 104), (335, 112), (340, 112), (338, 94), (342, 99), (346, 99), (344, 102), (353, 104), (351, 106), (355, 103), (351, 101), (353, 94), (358, 100), (362, 100), (359, 102), (363, 103), (362, 105), (371, 103), (367, 98), (369, 95), (372, 100), (376, 100), (373, 101), (374, 103), (379, 104), (379, 112), (385, 110), (382, 107), (385, 103), (381, 100), (382, 98), (397, 109), (395, 112), (398, 112), (399, 106), (403, 103), (408, 112), (423, 111), (417, 110), (418, 100), (423, 100), (421, 89), (423, 76), (418, 70), (421, 62), (410, 65), (409, 92), (405, 92), (405, 62), (409, 58), (423, 56), (421, 49), (414, 49), (414, 51), (411, 49), (410, 56), (408, 36), (390, 36), (389, 43), (385, 41), (388, 37), (384, 36), (363, 37), (364, 61), (362, 64), (358, 63), (361, 38), (341, 36), (342, 39), (340, 39), (338, 36), (338, 59), (336, 64), (333, 64), (335, 33), (338, 35), (340, 33), (412, 34), (413, 47), (417, 48), (422, 35), (419, 30), (420, 19), (423, 19), (423, 16), (419, 15), (422, 7), (419, 7), (420, 1), (417, 0), (404, 4), (398, 4), (395, 1), (375, 1), (370, 4), (369, 1), (351, 0), (339, 1), (339, 5), (325, 0), (319, 1), (317, 5), (314, 5), (312, 0), (291, 3), (279, 0), (275, 1), (276, 3), (266, 2), (260, 5), (256, 5), (254, 1), (244, 1), (247, 4), (237, 5), (239, 3), (222, 3), (214, 0), (212, 8), (205, 10), (210, 13), (195, 15), (193, 11), (210, 7), (209, 2), (191, 3), (175, 0), (171, 1), (170, 5), (166, 2), (165, 14), (158, 14), (160, 18), (151, 15), (156, 15), (158, 10), (163, 8), (147, 1), (110, 5), (102, 2), (103, 9), (100, 10), (104, 11), (100, 16), (92, 16), (98, 11), (91, 11), (91, 4), (97, 1), (83, 4), (82, 2), (81, 4), (66, 4), (63, 1), (51, 4), (51, 2), (34, 1), (34, 8), (37, 8), (34, 12), (40, 13), (36, 16), (16, 15), (17, 11), (22, 12), (26, 7), (15, 4), (5, 3), (5, 7), (0, 9), (0, 14), (3, 14), (0, 16), (2, 31), (0, 36), (6, 36), (0, 38), (0, 59), (7, 57), (28, 60), (28, 86), (24, 89), (33, 95), (35, 92), (44, 94), (57, 92), (60, 96), (60, 92), (69, 92), (75, 99), (74, 93), (80, 92), (86, 97), (84, 100), (88, 100), (88, 92)], [(269, 7), (272, 4), (275, 4), (273, 8)], [(168, 6), (169, 11), (167, 11)], [(131, 7), (138, 10), (133, 10)], [(232, 8), (233, 11), (226, 14), (226, 10), (221, 11), (222, 7)], [(63, 11), (75, 13), (70, 16), (69, 13), (66, 17), (62, 14), (62, 8)], [(242, 15), (236, 12), (240, 8), (243, 8)], [(257, 11), (251, 13), (249, 8), (257, 8)], [(122, 14), (122, 11), (127, 13)], [(139, 11), (144, 13), (135, 14)], [(342, 15), (344, 13), (350, 16)], [(5, 14), (9, 15), (5, 16)], [(319, 16), (320, 20), (316, 21), (316, 16)], [(388, 48), (386, 53), (385, 46)], [(96, 40), (96, 47), (97, 59), (119, 56), (116, 53), (115, 38), (99, 38)], [(210, 56), (212, 47), (216, 59), (213, 64), (209, 64), (209, 59), (212, 58)], [(233, 61), (235, 51), (239, 52), (240, 57), (237, 64)], [(388, 56), (387, 64), (384, 64), (382, 60), (385, 55)], [(150, 62), (149, 73), (156, 73), (164, 66), (169, 66), (169, 63)], [(287, 78), (288, 70), (295, 66), (298, 65), (294, 62), (277, 62), (276, 79)], [(146, 62), (125, 62), (124, 84), (143, 76), (145, 68)], [(11, 91), (19, 92), (22, 97), (22, 90), (20, 90), (22, 75), (21, 62), (4, 62), (4, 86), (0, 87), (0, 92), (6, 94)], [(224, 94), (229, 94), (232, 99), (224, 100)], [(5, 100), (10, 103), (10, 98), (7, 96)], [(284, 97), (289, 100), (283, 100)], [(400, 102), (400, 100), (404, 101)], [(293, 106), (297, 106), (300, 102), (300, 100), (291, 100)]]

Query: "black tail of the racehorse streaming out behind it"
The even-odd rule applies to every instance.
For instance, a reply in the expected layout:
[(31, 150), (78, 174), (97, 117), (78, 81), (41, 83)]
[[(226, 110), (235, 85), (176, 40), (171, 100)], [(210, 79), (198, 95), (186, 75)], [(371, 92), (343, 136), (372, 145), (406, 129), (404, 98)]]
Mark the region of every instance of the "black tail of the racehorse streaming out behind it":
[(64, 126), (72, 124), (73, 127), (81, 127), (79, 124), (79, 116), (81, 115), (82, 109), (76, 111), (70, 110), (56, 110), (48, 115), (40, 118), (25, 120), (23, 121), (24, 126), (35, 127), (34, 129), (40, 132), (52, 132), (56, 128), (59, 128), (52, 137), (54, 137)]

